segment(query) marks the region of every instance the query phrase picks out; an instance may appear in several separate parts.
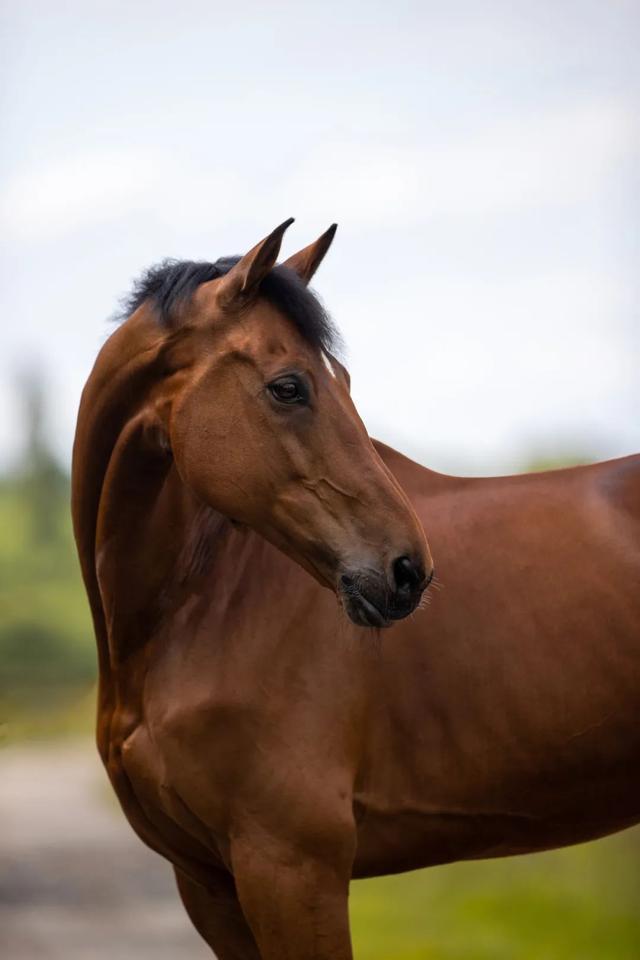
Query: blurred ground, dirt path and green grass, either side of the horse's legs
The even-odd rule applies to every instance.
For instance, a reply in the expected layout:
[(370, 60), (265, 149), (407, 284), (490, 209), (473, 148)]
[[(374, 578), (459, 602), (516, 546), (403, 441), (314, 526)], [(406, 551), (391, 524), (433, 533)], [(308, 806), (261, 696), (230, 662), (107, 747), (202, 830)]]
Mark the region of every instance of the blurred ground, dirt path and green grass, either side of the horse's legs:
[[(640, 831), (352, 885), (357, 960), (638, 960)], [(206, 960), (90, 740), (0, 748), (2, 960)]]

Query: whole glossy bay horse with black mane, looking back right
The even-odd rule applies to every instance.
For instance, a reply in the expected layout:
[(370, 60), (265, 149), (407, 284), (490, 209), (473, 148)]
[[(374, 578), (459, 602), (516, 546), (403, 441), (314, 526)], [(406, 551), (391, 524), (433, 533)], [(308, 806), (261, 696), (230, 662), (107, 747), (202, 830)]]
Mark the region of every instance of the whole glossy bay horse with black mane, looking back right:
[(335, 227), (276, 265), (290, 222), (143, 278), (74, 444), (100, 754), (220, 960), (348, 960), (352, 877), (640, 820), (640, 457), (371, 440), (307, 288)]

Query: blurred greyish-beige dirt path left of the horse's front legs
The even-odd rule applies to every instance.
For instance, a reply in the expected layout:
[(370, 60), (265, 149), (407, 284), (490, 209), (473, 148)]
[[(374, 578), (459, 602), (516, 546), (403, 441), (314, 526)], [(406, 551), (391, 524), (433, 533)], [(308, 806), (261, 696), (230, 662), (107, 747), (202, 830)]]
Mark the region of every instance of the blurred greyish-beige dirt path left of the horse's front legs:
[(3, 960), (211, 960), (92, 744), (0, 751)]

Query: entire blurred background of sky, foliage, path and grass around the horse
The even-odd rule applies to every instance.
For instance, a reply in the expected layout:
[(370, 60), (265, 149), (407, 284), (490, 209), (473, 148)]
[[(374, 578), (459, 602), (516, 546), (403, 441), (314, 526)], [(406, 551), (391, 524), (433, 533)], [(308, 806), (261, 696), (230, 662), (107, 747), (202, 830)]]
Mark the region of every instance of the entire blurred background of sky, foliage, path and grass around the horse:
[[(147, 265), (340, 229), (372, 434), (439, 470), (640, 450), (636, 0), (0, 6), (0, 954), (209, 954), (91, 742), (75, 414)], [(408, 413), (409, 411), (409, 413)], [(637, 960), (640, 834), (353, 885), (359, 960)]]

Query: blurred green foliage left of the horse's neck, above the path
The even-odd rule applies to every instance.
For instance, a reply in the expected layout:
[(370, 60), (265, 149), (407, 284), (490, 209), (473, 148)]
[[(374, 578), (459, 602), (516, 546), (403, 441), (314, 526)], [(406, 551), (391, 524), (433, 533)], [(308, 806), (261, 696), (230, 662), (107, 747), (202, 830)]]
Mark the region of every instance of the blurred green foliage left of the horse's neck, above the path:
[(95, 679), (69, 481), (48, 464), (45, 475), (46, 483), (33, 471), (0, 483), (0, 740), (59, 726), (59, 712)]

